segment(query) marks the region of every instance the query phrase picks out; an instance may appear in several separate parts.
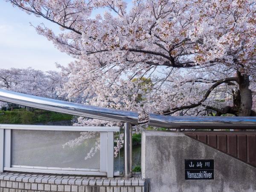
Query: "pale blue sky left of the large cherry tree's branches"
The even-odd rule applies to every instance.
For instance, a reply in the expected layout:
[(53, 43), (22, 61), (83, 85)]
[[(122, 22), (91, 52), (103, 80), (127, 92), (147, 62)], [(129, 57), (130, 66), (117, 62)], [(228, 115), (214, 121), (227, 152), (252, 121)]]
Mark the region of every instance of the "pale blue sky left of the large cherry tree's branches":
[[(131, 1), (128, 2), (128, 8)], [(103, 13), (103, 9), (96, 13)], [(30, 26), (45, 23), (46, 26), (58, 30), (56, 24), (41, 17), (28, 15), (11, 3), (0, 0), (0, 68), (32, 67), (40, 70), (56, 70), (55, 62), (66, 66), (74, 59), (60, 52), (54, 45)]]

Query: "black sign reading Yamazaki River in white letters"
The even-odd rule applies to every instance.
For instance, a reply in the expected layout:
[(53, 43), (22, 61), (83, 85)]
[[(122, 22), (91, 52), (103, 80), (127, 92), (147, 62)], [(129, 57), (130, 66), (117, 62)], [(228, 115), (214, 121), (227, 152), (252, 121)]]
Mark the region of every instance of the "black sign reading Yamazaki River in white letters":
[(185, 179), (214, 179), (214, 160), (185, 159)]

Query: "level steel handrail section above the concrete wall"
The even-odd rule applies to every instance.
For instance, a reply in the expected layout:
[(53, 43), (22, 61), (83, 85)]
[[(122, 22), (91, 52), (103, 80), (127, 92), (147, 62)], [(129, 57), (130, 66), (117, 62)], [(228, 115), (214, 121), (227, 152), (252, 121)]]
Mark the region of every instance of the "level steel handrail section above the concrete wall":
[(184, 129), (256, 129), (256, 117), (250, 116), (164, 116), (149, 114), (148, 124)]

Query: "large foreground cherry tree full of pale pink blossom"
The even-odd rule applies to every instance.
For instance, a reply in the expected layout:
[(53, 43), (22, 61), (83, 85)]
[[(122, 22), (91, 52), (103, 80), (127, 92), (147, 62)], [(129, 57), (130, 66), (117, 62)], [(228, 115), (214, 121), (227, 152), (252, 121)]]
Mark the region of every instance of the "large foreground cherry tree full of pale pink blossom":
[(71, 100), (139, 111), (142, 123), (148, 112), (255, 116), (254, 0), (7, 1), (60, 26), (35, 29), (76, 58), (59, 66)]

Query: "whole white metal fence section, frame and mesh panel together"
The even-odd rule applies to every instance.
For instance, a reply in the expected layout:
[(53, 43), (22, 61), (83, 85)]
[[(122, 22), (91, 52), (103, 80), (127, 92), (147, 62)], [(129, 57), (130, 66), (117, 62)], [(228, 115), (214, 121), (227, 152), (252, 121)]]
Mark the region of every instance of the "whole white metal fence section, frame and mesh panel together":
[(119, 127), (0, 125), (0, 172), (113, 177)]

